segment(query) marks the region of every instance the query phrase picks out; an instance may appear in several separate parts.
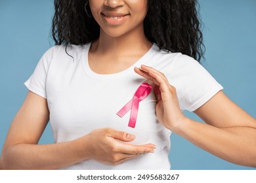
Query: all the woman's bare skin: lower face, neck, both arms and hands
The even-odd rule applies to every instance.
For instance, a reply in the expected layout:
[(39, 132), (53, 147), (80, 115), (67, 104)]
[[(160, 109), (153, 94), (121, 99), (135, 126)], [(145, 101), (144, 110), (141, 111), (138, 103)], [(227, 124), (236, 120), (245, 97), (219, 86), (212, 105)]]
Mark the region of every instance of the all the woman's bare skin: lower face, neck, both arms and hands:
[[(146, 0), (98, 0), (96, 3), (91, 0), (89, 3), (102, 27), (99, 39), (89, 50), (89, 65), (95, 73), (123, 71), (152, 46), (142, 26)], [(99, 14), (106, 10), (129, 13), (129, 18), (121, 25), (110, 25)], [(154, 82), (158, 99), (156, 115), (163, 126), (226, 161), (256, 167), (255, 118), (222, 91), (194, 111), (206, 122), (202, 124), (182, 114), (175, 87), (163, 73), (146, 65), (135, 68), (135, 73)], [(96, 129), (74, 141), (38, 145), (48, 121), (47, 100), (29, 91), (9, 129), (0, 167), (59, 169), (85, 159), (117, 165), (140, 154), (154, 152), (156, 148), (154, 144), (125, 144), (135, 136), (109, 128)]]

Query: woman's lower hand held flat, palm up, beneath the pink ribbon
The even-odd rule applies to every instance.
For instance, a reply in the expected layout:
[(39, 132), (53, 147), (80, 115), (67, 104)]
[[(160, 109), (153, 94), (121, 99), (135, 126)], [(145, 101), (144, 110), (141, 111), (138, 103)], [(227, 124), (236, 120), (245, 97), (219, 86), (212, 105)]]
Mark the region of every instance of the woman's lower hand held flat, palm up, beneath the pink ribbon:
[[(86, 140), (85, 140), (86, 139)], [(134, 145), (131, 142), (134, 135), (112, 128), (95, 129), (88, 135), (81, 137), (82, 152), (86, 159), (95, 159), (101, 163), (117, 165), (140, 154), (152, 153), (156, 148), (154, 144)]]

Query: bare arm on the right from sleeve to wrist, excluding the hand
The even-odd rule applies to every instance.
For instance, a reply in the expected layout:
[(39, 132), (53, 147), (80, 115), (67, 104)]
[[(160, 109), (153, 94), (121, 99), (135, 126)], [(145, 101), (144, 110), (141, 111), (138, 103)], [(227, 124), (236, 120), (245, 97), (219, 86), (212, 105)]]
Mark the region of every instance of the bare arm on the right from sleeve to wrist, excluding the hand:
[(187, 119), (175, 133), (226, 161), (256, 167), (255, 118), (223, 92), (194, 112), (207, 124)]

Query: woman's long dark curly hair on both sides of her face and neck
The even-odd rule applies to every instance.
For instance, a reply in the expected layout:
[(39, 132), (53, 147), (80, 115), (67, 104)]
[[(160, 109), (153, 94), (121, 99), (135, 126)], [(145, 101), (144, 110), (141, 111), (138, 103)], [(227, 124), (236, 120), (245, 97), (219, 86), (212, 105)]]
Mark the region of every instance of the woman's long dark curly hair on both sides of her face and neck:
[[(98, 39), (88, 0), (54, 0), (52, 36), (55, 44), (86, 44)], [(204, 45), (196, 0), (148, 0), (144, 33), (162, 50), (181, 52), (200, 61)]]

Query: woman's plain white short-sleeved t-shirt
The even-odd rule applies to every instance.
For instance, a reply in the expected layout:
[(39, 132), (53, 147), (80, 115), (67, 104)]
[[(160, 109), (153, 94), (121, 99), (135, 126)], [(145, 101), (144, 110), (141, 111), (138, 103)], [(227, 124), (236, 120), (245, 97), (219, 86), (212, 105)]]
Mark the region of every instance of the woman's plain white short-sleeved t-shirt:
[(141, 64), (158, 69), (175, 86), (181, 110), (196, 110), (222, 86), (198, 61), (181, 53), (167, 53), (156, 44), (134, 65), (111, 75), (98, 75), (88, 64), (91, 43), (81, 46), (53, 46), (40, 59), (33, 75), (25, 82), (29, 90), (47, 99), (54, 142), (72, 141), (94, 129), (112, 127), (136, 136), (132, 144), (156, 144), (154, 153), (143, 154), (119, 165), (106, 165), (93, 159), (64, 169), (170, 169), (168, 154), (171, 131), (155, 113), (153, 90), (140, 101), (135, 128), (129, 127), (129, 114), (117, 112), (133, 98), (143, 82), (152, 84), (133, 71)]

